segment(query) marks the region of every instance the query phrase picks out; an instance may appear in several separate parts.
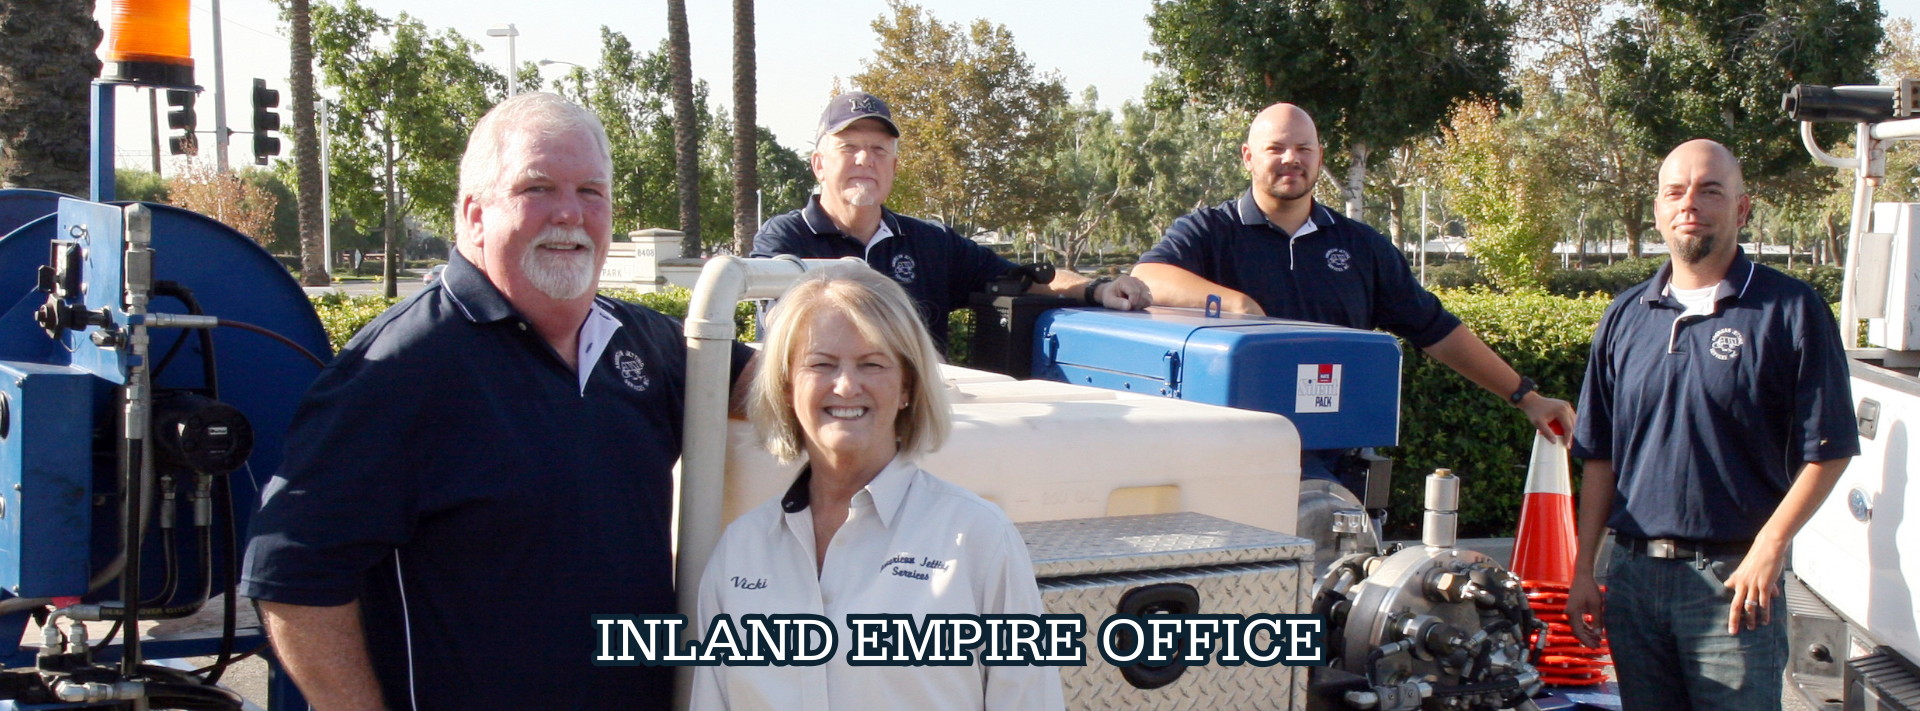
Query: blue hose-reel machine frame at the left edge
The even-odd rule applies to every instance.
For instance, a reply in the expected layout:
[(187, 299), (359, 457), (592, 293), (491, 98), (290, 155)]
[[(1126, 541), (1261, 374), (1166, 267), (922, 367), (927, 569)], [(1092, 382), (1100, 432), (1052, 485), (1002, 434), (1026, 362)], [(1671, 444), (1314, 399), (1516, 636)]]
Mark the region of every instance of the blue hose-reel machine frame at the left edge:
[[(332, 354), (305, 292), (257, 242), (205, 215), (169, 206), (148, 209), (154, 215), (156, 281), (190, 288), (207, 315), (263, 327), (321, 357)], [(35, 284), (50, 246), (81, 240), (84, 306), (92, 311), (106, 307), (115, 323), (125, 325), (119, 304), (121, 231), (119, 206), (42, 190), (0, 190), (0, 600), (117, 600), (117, 586), (88, 590), (88, 576), (121, 548), (119, 496), (106, 496), (119, 492), (115, 457), (102, 455), (98, 442), (119, 434), (115, 392), (127, 380), (131, 363), (121, 350), (94, 346), (88, 338), (94, 329), (50, 338), (33, 313), (46, 302)], [(186, 313), (186, 307), (171, 298), (154, 298), (152, 311)], [(179, 354), (169, 369), (156, 373), (156, 392), (204, 388), (198, 363), (211, 354), (202, 352), (190, 331), (154, 329), (154, 357), (175, 348), (175, 338), (182, 338)], [(246, 413), (253, 427), (253, 455), (230, 475), (232, 519), (244, 534), (267, 477), (280, 465), (300, 396), (319, 369), (305, 356), (259, 334), (217, 329), (211, 340), (219, 356), (213, 367), (219, 400)], [(215, 517), (219, 525), (227, 511), (215, 511)], [(146, 590), (159, 590), (163, 548), (180, 552), (192, 540), (184, 528), (171, 538), (148, 530), (142, 555)], [(202, 561), (186, 552), (180, 559), (213, 565), (215, 576), (227, 575), (221, 557)], [(0, 617), (0, 640), (8, 634), (19, 640), (27, 623), (29, 613)], [(261, 632), (244, 632), (234, 650), (248, 651), (261, 644)], [(211, 655), (217, 648), (219, 636), (142, 646), (148, 659)], [(35, 651), (17, 646), (0, 653), (0, 665), (31, 667)], [(94, 653), (96, 661), (117, 657), (117, 646), (102, 646)], [(298, 699), (298, 694), (288, 694), (292, 684), (284, 682), (284, 674), (275, 676), (273, 707), (292, 707), (284, 701)]]

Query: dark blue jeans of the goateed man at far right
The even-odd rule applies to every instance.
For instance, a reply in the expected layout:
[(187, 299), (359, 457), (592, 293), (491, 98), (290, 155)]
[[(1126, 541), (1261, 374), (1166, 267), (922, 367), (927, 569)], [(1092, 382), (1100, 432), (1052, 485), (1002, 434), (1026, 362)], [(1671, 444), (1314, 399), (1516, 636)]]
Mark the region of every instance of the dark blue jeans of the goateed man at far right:
[(1624, 711), (1780, 709), (1786, 600), (1774, 600), (1772, 625), (1726, 634), (1732, 590), (1722, 580), (1741, 557), (1657, 559), (1613, 548), (1605, 623)]

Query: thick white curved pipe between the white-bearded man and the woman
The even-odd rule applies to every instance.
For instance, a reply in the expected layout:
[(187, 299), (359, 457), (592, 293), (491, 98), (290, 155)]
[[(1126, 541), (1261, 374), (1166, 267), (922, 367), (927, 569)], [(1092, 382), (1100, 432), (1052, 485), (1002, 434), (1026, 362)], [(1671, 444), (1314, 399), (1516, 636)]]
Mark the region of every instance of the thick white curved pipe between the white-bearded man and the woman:
[[(674, 555), (674, 594), (687, 615), (687, 630), (699, 603), (701, 573), (720, 542), (720, 507), (726, 498), (726, 415), (733, 371), (733, 307), (741, 300), (778, 298), (810, 267), (860, 259), (707, 259), (687, 302), (687, 411), (680, 446), (678, 553)], [(674, 707), (685, 709), (693, 667), (674, 674)]]

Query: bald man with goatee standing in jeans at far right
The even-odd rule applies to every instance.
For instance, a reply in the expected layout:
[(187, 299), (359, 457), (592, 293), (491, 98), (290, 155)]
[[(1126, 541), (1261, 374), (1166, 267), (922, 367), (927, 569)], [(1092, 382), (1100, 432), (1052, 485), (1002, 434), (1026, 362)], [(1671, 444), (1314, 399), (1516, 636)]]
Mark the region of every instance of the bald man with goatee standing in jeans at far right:
[(1588, 646), (1605, 623), (1630, 711), (1780, 707), (1788, 542), (1860, 452), (1834, 313), (1747, 259), (1749, 208), (1724, 146), (1667, 156), (1653, 221), (1672, 257), (1607, 307), (1580, 388), (1567, 613)]

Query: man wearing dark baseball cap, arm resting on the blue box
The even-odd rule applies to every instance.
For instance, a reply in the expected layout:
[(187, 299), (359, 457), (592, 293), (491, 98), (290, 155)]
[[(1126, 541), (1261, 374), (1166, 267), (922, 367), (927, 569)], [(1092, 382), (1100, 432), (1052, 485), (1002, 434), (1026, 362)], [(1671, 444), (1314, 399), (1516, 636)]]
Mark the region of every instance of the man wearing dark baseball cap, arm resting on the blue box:
[[(760, 225), (753, 256), (862, 257), (906, 288), (945, 350), (947, 311), (966, 306), (968, 294), (985, 290), (1014, 263), (947, 225), (899, 215), (883, 206), (900, 159), (900, 129), (879, 96), (833, 96), (820, 113), (814, 138), (810, 161), (820, 192), (806, 200), (806, 208)], [(1071, 271), (1058, 273), (1050, 284), (1035, 284), (1029, 294), (1081, 298), (1110, 309), (1152, 304), (1139, 279), (1087, 279)]]

